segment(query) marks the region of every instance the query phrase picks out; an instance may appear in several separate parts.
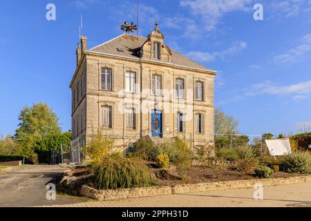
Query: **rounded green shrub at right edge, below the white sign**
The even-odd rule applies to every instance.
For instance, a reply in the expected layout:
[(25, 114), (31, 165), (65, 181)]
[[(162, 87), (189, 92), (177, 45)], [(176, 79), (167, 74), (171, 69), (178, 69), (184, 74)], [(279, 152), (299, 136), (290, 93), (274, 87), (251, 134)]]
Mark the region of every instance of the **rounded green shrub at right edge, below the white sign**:
[(285, 155), (281, 161), (281, 167), (287, 173), (311, 173), (311, 156), (303, 152)]

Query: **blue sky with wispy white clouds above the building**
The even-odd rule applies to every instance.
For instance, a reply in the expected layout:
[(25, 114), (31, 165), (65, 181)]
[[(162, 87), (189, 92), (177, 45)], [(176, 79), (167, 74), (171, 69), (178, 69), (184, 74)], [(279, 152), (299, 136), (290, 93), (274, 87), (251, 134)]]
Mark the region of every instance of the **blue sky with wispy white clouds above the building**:
[[(56, 21), (46, 20), (46, 5)], [(263, 4), (264, 21), (253, 19)], [(79, 15), (88, 48), (136, 21), (136, 0), (6, 1), (0, 7), (0, 134), (14, 134), (23, 106), (46, 102), (70, 129), (70, 79)], [(245, 134), (311, 127), (311, 0), (140, 0), (140, 35), (160, 23), (165, 43), (218, 70), (216, 106)]]

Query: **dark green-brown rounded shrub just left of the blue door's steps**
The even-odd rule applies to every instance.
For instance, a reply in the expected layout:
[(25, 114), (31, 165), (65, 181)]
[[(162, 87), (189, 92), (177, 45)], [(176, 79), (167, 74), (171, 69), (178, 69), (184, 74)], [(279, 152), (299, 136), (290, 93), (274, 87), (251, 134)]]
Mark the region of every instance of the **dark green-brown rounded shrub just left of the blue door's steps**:
[(133, 145), (131, 156), (140, 157), (144, 160), (156, 160), (161, 151), (159, 146), (153, 143), (151, 139), (140, 139)]

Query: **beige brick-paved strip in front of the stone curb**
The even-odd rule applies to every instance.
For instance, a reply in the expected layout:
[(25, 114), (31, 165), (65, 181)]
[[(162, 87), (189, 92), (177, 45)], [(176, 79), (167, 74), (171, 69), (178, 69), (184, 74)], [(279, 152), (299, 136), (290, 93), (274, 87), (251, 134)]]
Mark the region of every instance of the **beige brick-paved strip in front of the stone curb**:
[[(159, 195), (106, 202), (84, 202), (74, 207), (311, 207), (311, 183), (270, 186), (264, 200), (254, 200), (253, 189), (229, 189), (205, 193)], [(59, 205), (58, 205), (59, 206)]]

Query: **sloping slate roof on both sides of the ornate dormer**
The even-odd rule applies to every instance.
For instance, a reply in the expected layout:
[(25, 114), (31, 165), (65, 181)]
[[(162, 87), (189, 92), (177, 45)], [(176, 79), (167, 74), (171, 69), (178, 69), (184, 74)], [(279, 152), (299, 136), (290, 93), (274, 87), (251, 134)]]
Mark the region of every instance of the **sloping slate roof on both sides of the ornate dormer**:
[[(91, 52), (102, 52), (111, 55), (119, 55), (129, 58), (138, 58), (140, 48), (147, 41), (147, 38), (135, 36), (135, 35), (120, 35), (111, 39), (110, 41), (101, 44), (100, 46), (96, 46), (91, 48), (89, 51)], [(118, 48), (122, 48), (122, 50), (118, 50)], [(171, 63), (176, 64), (178, 66), (187, 66), (190, 68), (199, 68), (203, 70), (209, 70), (205, 66), (198, 64), (196, 61), (192, 61), (188, 57), (184, 55), (180, 55), (180, 53), (171, 50)]]

